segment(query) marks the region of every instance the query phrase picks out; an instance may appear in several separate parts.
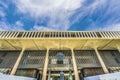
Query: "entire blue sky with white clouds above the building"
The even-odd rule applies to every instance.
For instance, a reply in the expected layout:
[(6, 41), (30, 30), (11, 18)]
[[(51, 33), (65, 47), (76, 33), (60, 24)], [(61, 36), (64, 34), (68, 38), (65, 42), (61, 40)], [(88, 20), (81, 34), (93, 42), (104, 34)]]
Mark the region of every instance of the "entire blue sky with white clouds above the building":
[(0, 0), (0, 30), (120, 30), (120, 0)]

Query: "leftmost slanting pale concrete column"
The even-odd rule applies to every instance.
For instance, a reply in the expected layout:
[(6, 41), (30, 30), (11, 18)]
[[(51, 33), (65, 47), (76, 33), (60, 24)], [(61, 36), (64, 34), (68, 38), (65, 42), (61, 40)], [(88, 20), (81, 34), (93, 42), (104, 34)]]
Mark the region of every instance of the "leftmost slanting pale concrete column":
[[(15, 73), (16, 73), (16, 71), (17, 71), (17, 68), (18, 68), (18, 66), (19, 66), (19, 64), (20, 64), (20, 61), (21, 61), (21, 59), (22, 59), (22, 56), (23, 56), (23, 54), (24, 54), (24, 50), (25, 50), (25, 48), (23, 48), (22, 51), (20, 52), (20, 55), (19, 55), (19, 57), (18, 57), (15, 65), (14, 65), (14, 67), (13, 67), (10, 75), (15, 75)], [(13, 57), (14, 57), (14, 56), (13, 56)]]

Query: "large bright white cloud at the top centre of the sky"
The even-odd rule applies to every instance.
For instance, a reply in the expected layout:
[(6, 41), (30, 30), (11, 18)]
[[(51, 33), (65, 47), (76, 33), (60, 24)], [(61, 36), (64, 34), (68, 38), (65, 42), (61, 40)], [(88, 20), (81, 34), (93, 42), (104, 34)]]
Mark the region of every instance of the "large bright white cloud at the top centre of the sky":
[[(29, 14), (37, 22), (39, 18), (42, 20), (48, 17), (45, 28), (67, 30), (70, 27), (69, 17), (82, 6), (83, 0), (18, 0), (14, 2), (19, 12)], [(36, 29), (36, 25), (34, 27)]]

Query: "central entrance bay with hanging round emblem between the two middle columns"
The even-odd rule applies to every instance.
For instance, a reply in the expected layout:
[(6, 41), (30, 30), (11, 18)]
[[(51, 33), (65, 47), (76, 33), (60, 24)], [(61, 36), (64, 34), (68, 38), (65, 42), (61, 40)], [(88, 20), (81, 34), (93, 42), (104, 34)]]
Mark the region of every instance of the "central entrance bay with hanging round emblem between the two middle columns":
[(49, 51), (47, 80), (74, 80), (70, 50)]

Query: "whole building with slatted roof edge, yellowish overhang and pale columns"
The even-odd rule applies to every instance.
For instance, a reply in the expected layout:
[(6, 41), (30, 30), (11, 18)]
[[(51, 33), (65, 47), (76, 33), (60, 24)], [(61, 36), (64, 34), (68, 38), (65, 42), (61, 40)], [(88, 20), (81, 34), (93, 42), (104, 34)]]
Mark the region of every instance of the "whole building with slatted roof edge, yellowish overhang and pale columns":
[(120, 71), (120, 31), (0, 31), (0, 71), (83, 80)]

